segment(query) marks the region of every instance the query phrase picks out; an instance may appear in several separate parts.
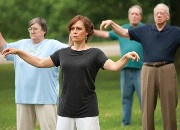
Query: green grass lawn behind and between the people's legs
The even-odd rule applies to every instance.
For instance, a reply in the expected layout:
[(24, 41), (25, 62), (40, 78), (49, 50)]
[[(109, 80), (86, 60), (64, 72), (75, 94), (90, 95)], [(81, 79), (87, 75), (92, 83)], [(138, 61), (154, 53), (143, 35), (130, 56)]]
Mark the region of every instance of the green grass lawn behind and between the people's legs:
[[(132, 125), (128, 127), (121, 126), (122, 107), (119, 78), (118, 72), (103, 70), (100, 70), (97, 76), (96, 92), (101, 130), (141, 130), (141, 112), (136, 93), (134, 94)], [(178, 105), (177, 122), (180, 129), (179, 109)], [(159, 102), (155, 111), (155, 126), (156, 130), (163, 129)], [(36, 126), (36, 129), (38, 129), (38, 126)], [(13, 64), (0, 64), (0, 130), (16, 130)]]

